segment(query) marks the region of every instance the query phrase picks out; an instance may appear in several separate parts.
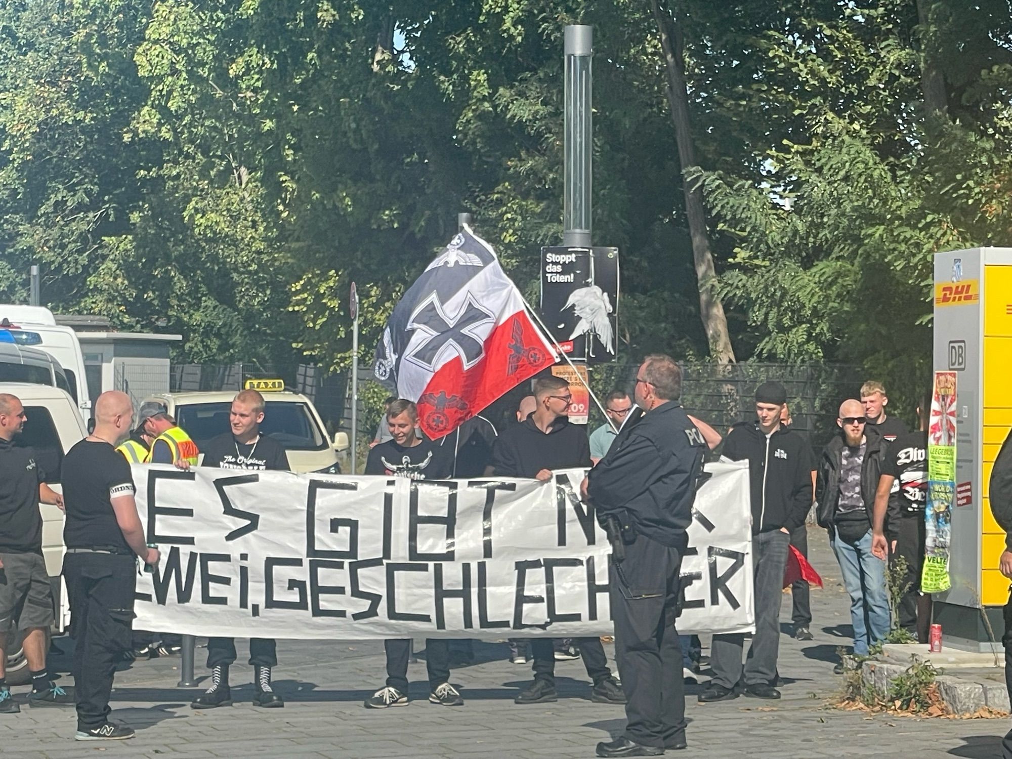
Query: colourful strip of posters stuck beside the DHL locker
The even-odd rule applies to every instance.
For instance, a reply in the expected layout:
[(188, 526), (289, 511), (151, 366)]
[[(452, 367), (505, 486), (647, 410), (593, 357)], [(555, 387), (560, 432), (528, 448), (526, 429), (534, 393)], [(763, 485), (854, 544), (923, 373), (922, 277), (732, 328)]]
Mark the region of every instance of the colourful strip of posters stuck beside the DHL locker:
[(955, 501), (955, 372), (936, 371), (928, 427), (928, 507), (921, 575), (925, 593), (941, 593), (952, 584), (948, 556)]

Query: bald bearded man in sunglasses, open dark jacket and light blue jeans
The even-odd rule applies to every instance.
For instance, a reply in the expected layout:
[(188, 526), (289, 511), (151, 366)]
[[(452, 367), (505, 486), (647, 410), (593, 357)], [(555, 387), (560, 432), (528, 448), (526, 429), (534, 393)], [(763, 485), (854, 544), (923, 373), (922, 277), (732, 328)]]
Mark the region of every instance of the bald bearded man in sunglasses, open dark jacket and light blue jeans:
[[(844, 401), (836, 423), (840, 434), (819, 458), (818, 521), (829, 531), (830, 546), (850, 594), (854, 654), (867, 656), (868, 649), (881, 641), (890, 627), (886, 562), (872, 553), (870, 518), (884, 440), (867, 424), (860, 401)], [(835, 671), (843, 672), (842, 663)]]

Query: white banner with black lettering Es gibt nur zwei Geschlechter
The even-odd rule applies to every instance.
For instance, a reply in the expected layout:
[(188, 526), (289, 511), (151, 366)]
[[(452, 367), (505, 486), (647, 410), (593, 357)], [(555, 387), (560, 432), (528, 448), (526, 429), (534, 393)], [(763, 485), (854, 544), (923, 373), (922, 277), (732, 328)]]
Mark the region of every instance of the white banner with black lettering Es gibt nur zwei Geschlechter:
[[(748, 466), (707, 465), (679, 631), (753, 628)], [(148, 541), (138, 629), (289, 639), (611, 634), (583, 470), (425, 481), (133, 467)]]

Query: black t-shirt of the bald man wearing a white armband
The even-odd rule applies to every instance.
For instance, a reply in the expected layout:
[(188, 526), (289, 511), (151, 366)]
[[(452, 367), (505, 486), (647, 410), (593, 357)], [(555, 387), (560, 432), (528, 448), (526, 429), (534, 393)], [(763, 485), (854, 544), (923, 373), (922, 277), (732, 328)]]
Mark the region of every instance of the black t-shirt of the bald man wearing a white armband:
[(130, 465), (107, 442), (81, 440), (64, 456), (64, 542), (68, 549), (104, 549), (133, 554), (112, 499), (134, 495)]

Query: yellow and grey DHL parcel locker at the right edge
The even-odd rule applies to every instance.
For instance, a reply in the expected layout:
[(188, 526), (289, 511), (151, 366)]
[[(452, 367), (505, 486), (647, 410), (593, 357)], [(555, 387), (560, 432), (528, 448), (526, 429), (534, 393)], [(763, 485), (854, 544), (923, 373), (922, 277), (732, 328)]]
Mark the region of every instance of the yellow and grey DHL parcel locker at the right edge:
[(1001, 648), (1009, 597), (998, 572), (1005, 533), (991, 516), (988, 481), (1012, 428), (1012, 248), (938, 253), (934, 280), (934, 368), (956, 372), (957, 492), (952, 587), (935, 594), (934, 621), (945, 645), (991, 651)]

